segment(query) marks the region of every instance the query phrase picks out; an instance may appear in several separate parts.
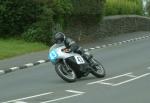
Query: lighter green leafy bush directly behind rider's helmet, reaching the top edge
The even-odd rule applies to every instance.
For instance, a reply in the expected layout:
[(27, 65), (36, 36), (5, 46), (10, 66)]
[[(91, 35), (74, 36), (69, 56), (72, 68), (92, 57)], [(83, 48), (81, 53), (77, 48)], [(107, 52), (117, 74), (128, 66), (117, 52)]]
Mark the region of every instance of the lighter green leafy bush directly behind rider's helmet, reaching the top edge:
[[(64, 27), (65, 17), (71, 14), (72, 5), (70, 0), (41, 0), (40, 2), (43, 4), (43, 12), (40, 14), (39, 20), (31, 25), (22, 37), (27, 41), (38, 41), (49, 45), (54, 33), (53, 29), (57, 24)], [(55, 31), (60, 30), (56, 29)]]

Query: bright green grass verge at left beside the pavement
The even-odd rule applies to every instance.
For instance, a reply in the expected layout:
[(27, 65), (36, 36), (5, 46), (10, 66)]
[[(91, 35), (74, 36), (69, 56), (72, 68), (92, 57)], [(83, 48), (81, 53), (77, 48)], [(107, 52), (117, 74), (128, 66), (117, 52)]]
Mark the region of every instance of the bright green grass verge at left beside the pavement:
[(0, 39), (0, 60), (48, 49), (42, 43), (29, 43), (21, 39)]

